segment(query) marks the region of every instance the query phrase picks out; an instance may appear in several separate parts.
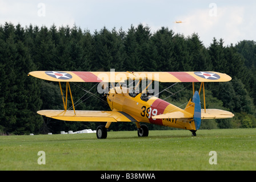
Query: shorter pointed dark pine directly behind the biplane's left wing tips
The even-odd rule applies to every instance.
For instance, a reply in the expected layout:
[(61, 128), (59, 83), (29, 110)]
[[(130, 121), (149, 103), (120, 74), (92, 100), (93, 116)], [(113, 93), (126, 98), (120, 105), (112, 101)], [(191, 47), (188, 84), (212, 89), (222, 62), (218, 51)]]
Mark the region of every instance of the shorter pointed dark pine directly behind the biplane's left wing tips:
[(17, 57), (14, 61), (15, 86), (14, 94), (17, 117), (14, 134), (39, 133), (42, 126), (42, 118), (36, 113), (40, 109), (42, 101), (38, 80), (27, 78), (27, 73), (35, 70), (27, 48), (22, 42), (16, 44)]

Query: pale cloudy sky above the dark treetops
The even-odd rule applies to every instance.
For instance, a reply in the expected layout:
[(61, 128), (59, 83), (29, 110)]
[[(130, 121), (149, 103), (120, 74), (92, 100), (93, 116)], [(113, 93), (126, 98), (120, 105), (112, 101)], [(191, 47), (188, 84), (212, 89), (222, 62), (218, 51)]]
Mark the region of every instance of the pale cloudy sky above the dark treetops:
[(0, 24), (75, 24), (93, 33), (103, 27), (127, 31), (142, 23), (152, 33), (168, 27), (184, 36), (197, 33), (206, 47), (213, 38), (229, 46), (241, 40), (256, 41), (255, 8), (255, 0), (0, 0)]

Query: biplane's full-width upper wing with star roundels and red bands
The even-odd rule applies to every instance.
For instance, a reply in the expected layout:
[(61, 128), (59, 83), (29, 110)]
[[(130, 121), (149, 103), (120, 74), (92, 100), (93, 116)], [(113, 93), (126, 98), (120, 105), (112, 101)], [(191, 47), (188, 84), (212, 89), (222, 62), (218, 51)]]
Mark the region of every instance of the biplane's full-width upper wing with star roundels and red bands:
[(154, 80), (159, 82), (224, 82), (231, 77), (218, 72), (59, 72), (34, 71), (29, 75), (49, 81), (61, 82), (122, 82)]

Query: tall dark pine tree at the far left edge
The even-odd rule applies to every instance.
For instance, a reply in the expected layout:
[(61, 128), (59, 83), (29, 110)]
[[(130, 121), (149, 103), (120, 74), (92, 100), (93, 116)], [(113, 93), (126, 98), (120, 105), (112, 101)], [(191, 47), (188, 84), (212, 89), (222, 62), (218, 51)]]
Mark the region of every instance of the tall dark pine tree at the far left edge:
[(15, 50), (13, 24), (5, 23), (2, 31), (2, 40), (0, 40), (0, 68), (2, 74), (0, 77), (0, 99), (3, 103), (1, 104), (3, 110), (1, 110), (0, 125), (4, 133), (11, 133), (17, 120), (15, 115), (17, 112), (15, 104), (17, 86), (15, 85), (13, 67), (17, 52)]

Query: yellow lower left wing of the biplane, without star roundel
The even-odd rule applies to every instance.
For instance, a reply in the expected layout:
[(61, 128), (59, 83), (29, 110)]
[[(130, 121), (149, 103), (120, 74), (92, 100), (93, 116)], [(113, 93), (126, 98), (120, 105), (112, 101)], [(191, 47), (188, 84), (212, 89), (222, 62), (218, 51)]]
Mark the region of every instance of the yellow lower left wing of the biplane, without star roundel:
[(131, 115), (121, 111), (83, 111), (83, 110), (39, 110), (38, 114), (63, 121), (87, 122), (135, 122)]

